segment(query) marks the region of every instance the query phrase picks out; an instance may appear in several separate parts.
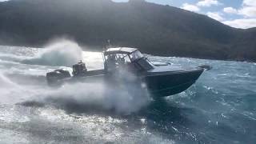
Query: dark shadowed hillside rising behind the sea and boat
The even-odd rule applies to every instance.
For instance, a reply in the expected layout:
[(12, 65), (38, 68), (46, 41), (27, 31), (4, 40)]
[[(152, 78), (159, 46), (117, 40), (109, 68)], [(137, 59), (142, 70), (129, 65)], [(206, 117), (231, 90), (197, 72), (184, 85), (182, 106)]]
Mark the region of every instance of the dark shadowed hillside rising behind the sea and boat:
[(235, 29), (173, 6), (143, 0), (0, 2), (0, 44), (42, 46), (59, 36), (97, 50), (110, 39), (147, 54), (256, 62), (256, 28)]

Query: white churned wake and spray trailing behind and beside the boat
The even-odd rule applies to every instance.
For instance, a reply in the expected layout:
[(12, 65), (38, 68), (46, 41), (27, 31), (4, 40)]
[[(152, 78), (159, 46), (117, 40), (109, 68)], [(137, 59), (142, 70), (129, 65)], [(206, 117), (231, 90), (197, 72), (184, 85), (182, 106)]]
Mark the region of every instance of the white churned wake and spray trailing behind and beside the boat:
[[(77, 43), (62, 40), (28, 56), (13, 53), (2, 55), (0, 59), (6, 61), (2, 63), (5, 75), (0, 74), (0, 87), (3, 89), (2, 94), (5, 94), (3, 96), (12, 95), (14, 101), (6, 98), (10, 100), (8, 103), (16, 102), (23, 106), (50, 105), (69, 113), (107, 110), (118, 114), (131, 114), (148, 104), (148, 94), (133, 84), (117, 87), (102, 82), (77, 82), (58, 88), (46, 86), (46, 70), (50, 70), (52, 66), (72, 66), (81, 60), (85, 53)], [(101, 58), (101, 55), (98, 55)], [(15, 69), (8, 68), (12, 62), (18, 62), (14, 64)], [(28, 78), (30, 81), (26, 82)]]

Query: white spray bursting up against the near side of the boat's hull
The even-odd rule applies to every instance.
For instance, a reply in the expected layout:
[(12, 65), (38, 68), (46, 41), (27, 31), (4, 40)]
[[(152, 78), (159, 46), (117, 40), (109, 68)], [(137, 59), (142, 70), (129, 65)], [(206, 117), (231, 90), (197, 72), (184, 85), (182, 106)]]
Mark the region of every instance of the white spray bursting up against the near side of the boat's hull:
[(41, 102), (63, 107), (71, 113), (110, 110), (118, 114), (131, 114), (150, 102), (149, 94), (135, 77), (123, 71), (123, 74), (115, 74), (118, 82), (95, 80), (66, 84), (36, 98), (41, 98)]

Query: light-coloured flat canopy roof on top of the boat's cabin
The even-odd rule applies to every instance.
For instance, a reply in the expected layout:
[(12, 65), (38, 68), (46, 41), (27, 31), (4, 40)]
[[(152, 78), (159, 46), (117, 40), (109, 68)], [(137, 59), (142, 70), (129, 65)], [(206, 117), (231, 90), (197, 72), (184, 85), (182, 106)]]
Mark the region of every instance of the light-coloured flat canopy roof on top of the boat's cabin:
[(134, 51), (138, 49), (130, 48), (130, 47), (118, 47), (118, 48), (110, 48), (104, 52), (104, 55), (109, 54), (132, 54)]

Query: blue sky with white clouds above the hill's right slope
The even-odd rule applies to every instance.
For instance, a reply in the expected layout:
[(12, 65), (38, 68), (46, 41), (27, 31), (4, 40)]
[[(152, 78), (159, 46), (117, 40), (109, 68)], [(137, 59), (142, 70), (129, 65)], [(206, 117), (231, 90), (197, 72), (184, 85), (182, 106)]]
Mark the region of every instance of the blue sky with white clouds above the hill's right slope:
[[(128, 0), (113, 0), (127, 2)], [(247, 29), (256, 27), (256, 0), (146, 0), (162, 5), (179, 7), (210, 18), (226, 25)]]

